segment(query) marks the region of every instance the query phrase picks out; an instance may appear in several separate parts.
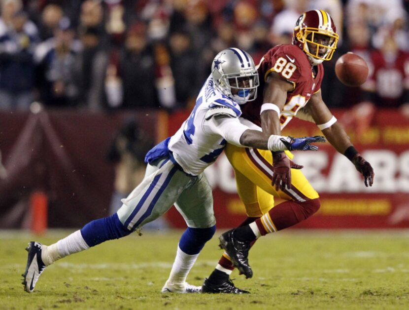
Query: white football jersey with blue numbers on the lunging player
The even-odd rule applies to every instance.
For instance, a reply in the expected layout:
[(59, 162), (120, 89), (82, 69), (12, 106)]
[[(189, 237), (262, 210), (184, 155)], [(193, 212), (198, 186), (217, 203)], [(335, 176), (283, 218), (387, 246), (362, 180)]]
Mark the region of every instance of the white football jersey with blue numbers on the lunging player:
[[(227, 113), (223, 114), (230, 116), (224, 119), (230, 122), (235, 120), (229, 124), (230, 133), (221, 132), (222, 126), (215, 128), (212, 123), (211, 114), (214, 112), (214, 115), (217, 115), (218, 110), (226, 111)], [(239, 104), (215, 89), (213, 77), (210, 75), (197, 97), (195, 108), (189, 118), (183, 122), (169, 142), (173, 157), (186, 173), (191, 175), (202, 173), (223, 152), (226, 140), (238, 144), (238, 139), (231, 141), (232, 139), (228, 137), (232, 136), (232, 130), (236, 131), (236, 137), (239, 137), (248, 129), (240, 124), (240, 115)]]

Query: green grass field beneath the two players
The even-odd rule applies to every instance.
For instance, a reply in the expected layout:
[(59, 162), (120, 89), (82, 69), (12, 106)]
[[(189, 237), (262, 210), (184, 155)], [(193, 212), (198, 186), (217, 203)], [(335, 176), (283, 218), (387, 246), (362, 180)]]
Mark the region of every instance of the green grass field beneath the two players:
[[(33, 294), (21, 273), (28, 241), (69, 232), (0, 232), (0, 309), (409, 309), (409, 233), (291, 231), (261, 238), (254, 276), (234, 271), (249, 295), (162, 294), (180, 231), (108, 241), (48, 267)], [(200, 285), (217, 263), (217, 232), (191, 271)]]

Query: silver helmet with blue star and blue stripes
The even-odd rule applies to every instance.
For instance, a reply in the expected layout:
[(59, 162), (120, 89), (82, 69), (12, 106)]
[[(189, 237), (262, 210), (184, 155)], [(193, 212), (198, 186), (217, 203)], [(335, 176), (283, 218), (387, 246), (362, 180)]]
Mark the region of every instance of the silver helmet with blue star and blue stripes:
[(239, 48), (226, 48), (211, 65), (216, 88), (238, 104), (257, 98), (259, 77), (250, 54)]

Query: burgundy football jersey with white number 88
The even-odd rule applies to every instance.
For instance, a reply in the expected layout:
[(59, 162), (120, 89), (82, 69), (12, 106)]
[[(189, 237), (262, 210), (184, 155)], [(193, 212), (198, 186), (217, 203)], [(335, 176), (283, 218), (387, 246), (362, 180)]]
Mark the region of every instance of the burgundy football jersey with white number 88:
[(322, 64), (319, 64), (314, 76), (307, 55), (295, 45), (281, 44), (270, 49), (263, 56), (258, 67), (260, 79), (258, 97), (255, 101), (248, 102), (241, 107), (241, 116), (259, 126), (261, 126), (260, 110), (263, 104), (264, 86), (267, 76), (272, 71), (277, 72), (294, 85), (294, 89), (287, 93), (285, 106), (281, 110), (282, 129), (297, 111), (307, 104), (312, 94), (320, 89), (324, 69)]

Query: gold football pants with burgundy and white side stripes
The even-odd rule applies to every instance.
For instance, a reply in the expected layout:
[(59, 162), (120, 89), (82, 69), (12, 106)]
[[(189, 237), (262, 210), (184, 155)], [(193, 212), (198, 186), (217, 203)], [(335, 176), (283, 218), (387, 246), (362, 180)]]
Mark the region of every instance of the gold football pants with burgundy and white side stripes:
[[(291, 169), (290, 190), (276, 191), (271, 183), (273, 176), (271, 151), (227, 144), (225, 153), (234, 168), (237, 190), (249, 217), (262, 216), (273, 208), (274, 203), (278, 204), (282, 200), (306, 201), (319, 197), (299, 169)], [(286, 155), (293, 158), (288, 151)]]

